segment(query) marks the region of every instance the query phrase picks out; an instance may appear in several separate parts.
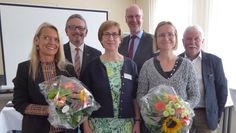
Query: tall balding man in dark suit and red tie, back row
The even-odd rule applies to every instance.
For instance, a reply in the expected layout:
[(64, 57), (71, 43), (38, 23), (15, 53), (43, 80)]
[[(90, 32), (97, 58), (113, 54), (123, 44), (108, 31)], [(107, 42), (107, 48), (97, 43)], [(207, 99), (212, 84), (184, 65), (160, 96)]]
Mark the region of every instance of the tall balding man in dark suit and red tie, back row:
[(125, 20), (130, 29), (130, 35), (123, 38), (119, 47), (119, 52), (122, 55), (129, 57), (131, 38), (135, 35), (134, 52), (130, 58), (137, 64), (139, 72), (143, 63), (153, 56), (153, 36), (144, 32), (142, 29), (143, 10), (138, 5), (133, 4), (126, 9)]

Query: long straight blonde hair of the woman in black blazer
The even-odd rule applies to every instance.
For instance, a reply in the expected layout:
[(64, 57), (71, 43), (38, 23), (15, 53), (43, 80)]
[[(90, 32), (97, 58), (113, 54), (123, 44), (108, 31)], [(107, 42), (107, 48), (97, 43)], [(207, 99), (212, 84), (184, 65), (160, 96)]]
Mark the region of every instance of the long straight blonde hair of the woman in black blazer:
[(30, 69), (29, 69), (29, 74), (32, 74), (33, 79), (35, 80), (38, 76), (38, 67), (39, 67), (39, 63), (40, 63), (40, 56), (39, 56), (39, 50), (36, 44), (36, 40), (38, 39), (38, 37), (40, 37), (41, 33), (42, 33), (42, 29), (44, 28), (51, 28), (53, 30), (55, 30), (57, 32), (58, 38), (59, 38), (59, 49), (55, 55), (55, 62), (57, 67), (60, 70), (65, 70), (65, 66), (66, 66), (66, 61), (65, 61), (65, 55), (64, 55), (64, 50), (61, 44), (61, 39), (59, 36), (59, 32), (58, 29), (47, 22), (42, 23), (33, 38), (33, 46), (32, 46), (32, 50), (31, 50), (31, 54), (30, 54)]

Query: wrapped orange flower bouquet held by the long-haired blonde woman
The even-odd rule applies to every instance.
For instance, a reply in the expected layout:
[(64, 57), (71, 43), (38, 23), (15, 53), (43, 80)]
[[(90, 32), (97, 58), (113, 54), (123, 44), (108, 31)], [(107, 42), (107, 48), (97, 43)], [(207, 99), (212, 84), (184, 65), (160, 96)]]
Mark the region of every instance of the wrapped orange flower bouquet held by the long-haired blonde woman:
[(39, 86), (49, 104), (48, 121), (54, 127), (74, 129), (100, 107), (74, 77), (57, 76)]

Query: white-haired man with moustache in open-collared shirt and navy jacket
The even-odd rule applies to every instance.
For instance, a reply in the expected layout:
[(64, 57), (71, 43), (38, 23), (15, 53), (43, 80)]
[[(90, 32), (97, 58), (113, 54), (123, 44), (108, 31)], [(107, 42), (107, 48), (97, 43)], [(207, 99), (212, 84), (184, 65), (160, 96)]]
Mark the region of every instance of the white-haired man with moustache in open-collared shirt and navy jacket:
[(191, 133), (216, 133), (227, 100), (227, 79), (222, 60), (202, 50), (204, 35), (201, 27), (189, 26), (183, 35), (185, 52), (195, 68), (201, 100), (194, 109)]

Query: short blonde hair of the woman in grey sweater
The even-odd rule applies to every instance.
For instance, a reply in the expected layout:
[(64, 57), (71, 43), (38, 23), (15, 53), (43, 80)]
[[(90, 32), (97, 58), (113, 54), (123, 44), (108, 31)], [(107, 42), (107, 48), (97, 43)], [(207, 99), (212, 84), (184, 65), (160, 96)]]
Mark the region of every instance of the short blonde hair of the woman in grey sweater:
[(175, 47), (174, 47), (174, 50), (176, 50), (178, 48), (178, 33), (177, 33), (177, 29), (175, 28), (175, 26), (170, 22), (170, 21), (162, 21), (160, 22), (156, 29), (155, 29), (155, 33), (154, 33), (154, 39), (153, 39), (153, 52), (157, 52), (159, 50), (159, 48), (157, 47), (157, 31), (159, 30), (159, 28), (163, 25), (171, 25), (173, 28), (174, 28), (174, 33), (175, 33)]

